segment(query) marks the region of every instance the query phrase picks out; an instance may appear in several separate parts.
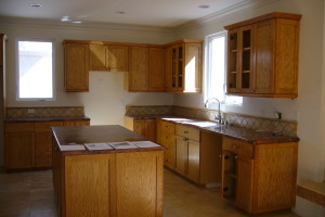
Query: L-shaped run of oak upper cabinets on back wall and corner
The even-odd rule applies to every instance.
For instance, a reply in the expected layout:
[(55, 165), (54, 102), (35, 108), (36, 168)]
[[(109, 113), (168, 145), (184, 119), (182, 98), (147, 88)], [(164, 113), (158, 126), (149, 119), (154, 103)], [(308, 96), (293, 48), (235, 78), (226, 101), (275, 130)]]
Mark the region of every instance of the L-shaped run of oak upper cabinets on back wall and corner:
[(64, 40), (65, 91), (89, 90), (89, 71), (128, 72), (130, 92), (202, 92), (202, 40), (168, 44)]

